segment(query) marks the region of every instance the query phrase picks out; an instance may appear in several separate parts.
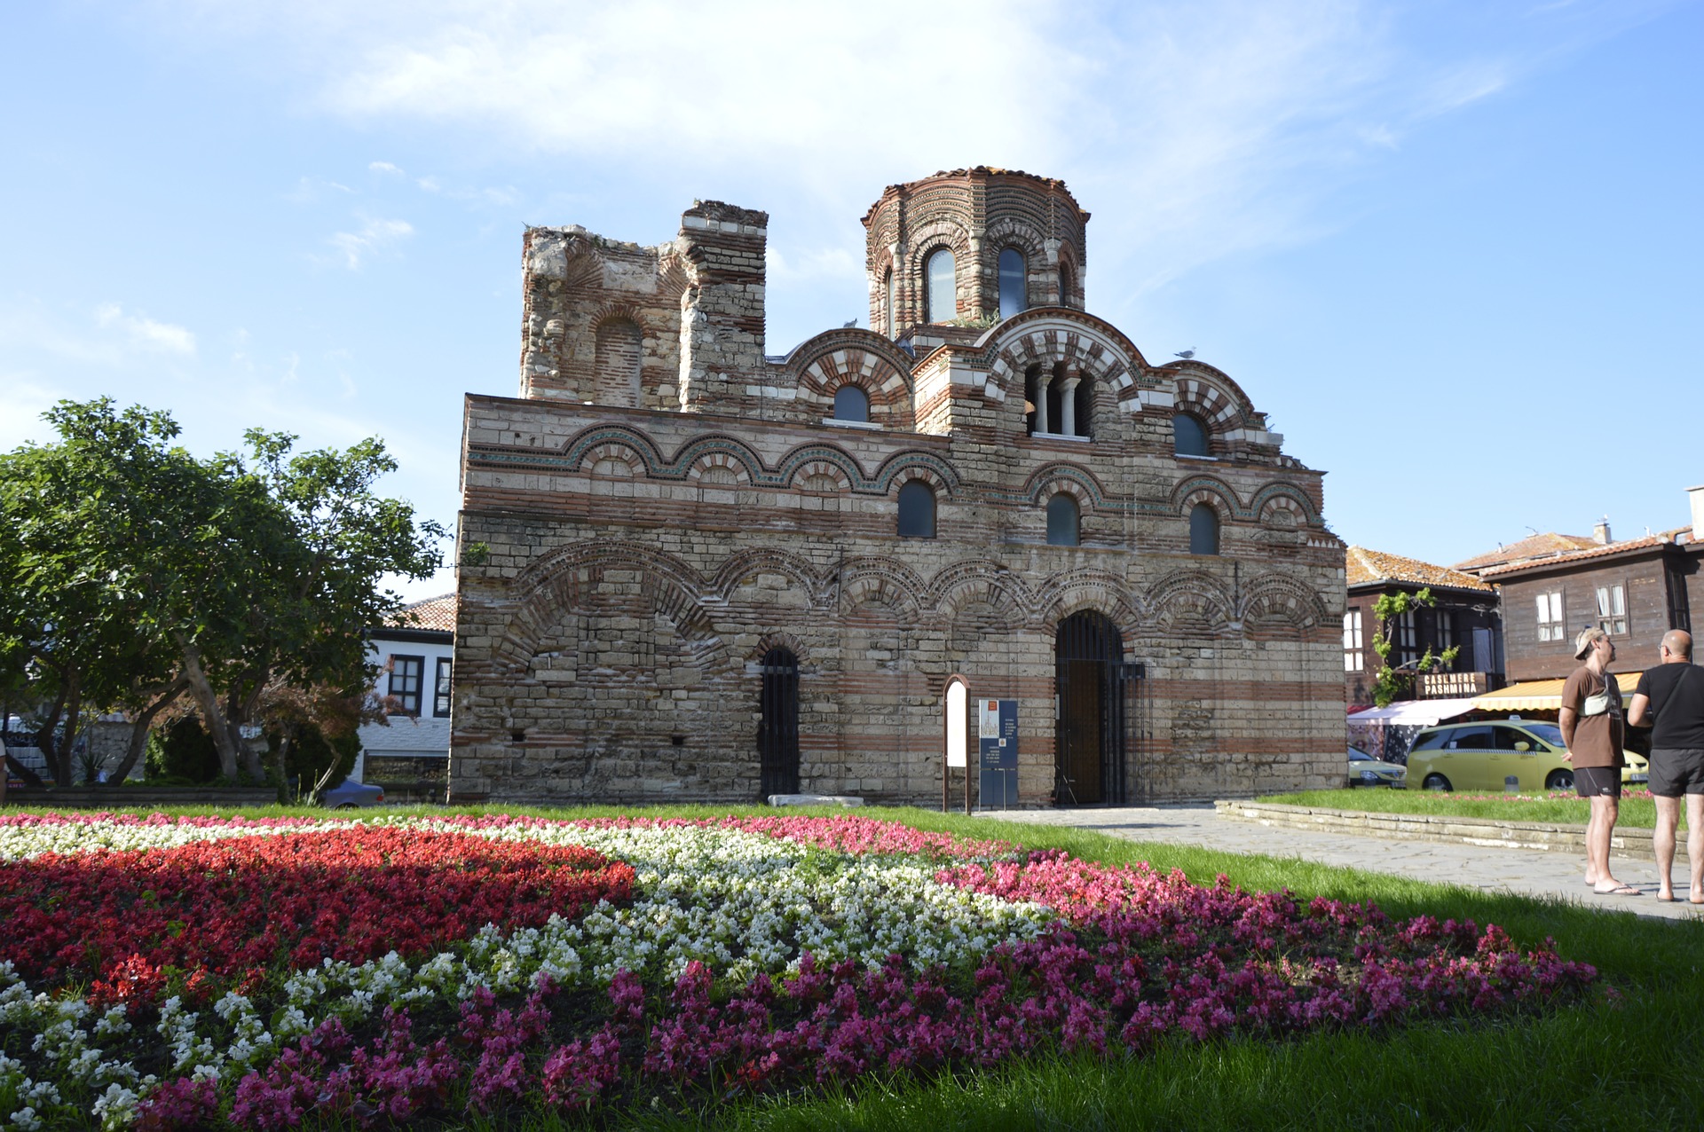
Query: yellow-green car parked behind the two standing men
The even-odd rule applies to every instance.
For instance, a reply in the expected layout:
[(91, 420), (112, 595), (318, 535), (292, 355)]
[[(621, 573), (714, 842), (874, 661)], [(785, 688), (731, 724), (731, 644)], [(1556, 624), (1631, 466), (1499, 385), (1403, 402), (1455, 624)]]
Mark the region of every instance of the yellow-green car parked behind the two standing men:
[[(1414, 735), (1408, 781), (1421, 790), (1503, 790), (1513, 776), (1520, 790), (1573, 790), (1574, 766), (1563, 759), (1563, 729), (1528, 720), (1445, 723)], [(1624, 786), (1649, 781), (1644, 758), (1624, 751)]]

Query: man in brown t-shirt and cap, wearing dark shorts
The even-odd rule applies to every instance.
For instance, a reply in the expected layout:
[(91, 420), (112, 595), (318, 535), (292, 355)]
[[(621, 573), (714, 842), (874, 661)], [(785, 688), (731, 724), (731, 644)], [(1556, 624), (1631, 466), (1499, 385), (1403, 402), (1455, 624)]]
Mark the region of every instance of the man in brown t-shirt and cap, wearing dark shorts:
[(1609, 872), (1609, 838), (1621, 815), (1622, 717), (1621, 686), (1610, 674), (1615, 642), (1600, 628), (1588, 628), (1574, 638), (1574, 660), (1585, 660), (1563, 684), (1563, 742), (1574, 764), (1574, 790), (1592, 798), (1586, 822), (1586, 883), (1598, 895), (1639, 895)]

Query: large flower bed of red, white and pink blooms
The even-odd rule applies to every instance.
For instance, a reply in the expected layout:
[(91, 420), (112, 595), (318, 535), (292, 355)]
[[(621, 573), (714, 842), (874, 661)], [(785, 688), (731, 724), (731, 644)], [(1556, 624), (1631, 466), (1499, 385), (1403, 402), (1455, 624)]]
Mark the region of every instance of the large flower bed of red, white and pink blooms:
[(0, 819), (0, 916), (29, 923), (0, 940), (14, 1127), (699, 1105), (1595, 979), (1496, 928), (864, 817)]

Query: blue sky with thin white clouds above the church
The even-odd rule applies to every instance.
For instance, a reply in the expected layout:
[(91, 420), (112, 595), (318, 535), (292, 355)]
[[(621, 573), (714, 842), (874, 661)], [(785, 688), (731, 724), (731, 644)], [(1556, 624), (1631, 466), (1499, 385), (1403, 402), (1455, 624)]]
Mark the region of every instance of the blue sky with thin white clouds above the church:
[(883, 186), (987, 163), (1070, 184), (1089, 308), (1242, 383), (1344, 540), (1680, 526), (1701, 58), (1685, 0), (5, 5), (0, 448), (95, 395), (378, 434), (448, 524), (525, 225), (767, 209), (782, 352), (867, 317)]

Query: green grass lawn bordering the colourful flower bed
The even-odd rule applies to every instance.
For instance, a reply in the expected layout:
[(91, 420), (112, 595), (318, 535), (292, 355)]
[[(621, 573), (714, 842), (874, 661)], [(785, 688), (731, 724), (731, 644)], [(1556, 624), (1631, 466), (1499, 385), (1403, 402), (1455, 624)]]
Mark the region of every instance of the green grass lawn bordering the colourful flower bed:
[[(1312, 798), (1324, 805), (1322, 795)], [(1343, 792), (1348, 793), (1348, 792)], [(1356, 792), (1372, 803), (1435, 795)], [(1442, 798), (1448, 802), (1448, 797)], [(1515, 803), (1482, 803), (1515, 805)], [(1523, 803), (1522, 803), (1523, 805)], [(1532, 803), (1551, 805), (1551, 803)], [(1561, 803), (1557, 803), (1561, 805)], [(1649, 805), (1649, 803), (1646, 803)], [(184, 812), (223, 812), (182, 807)], [(247, 815), (302, 814), (273, 807)], [(441, 814), (441, 809), (421, 810)], [(525, 809), (591, 817), (598, 809)], [(648, 809), (707, 817), (728, 807)], [(741, 810), (769, 812), (774, 810)], [(792, 812), (792, 810), (789, 810)], [(838, 810), (799, 810), (804, 814)], [(1540, 1016), (1452, 1020), (1384, 1033), (1288, 1042), (1174, 1042), (1140, 1059), (1043, 1057), (999, 1071), (893, 1079), (855, 1095), (740, 1101), (711, 1113), (639, 1112), (613, 1127), (803, 1129), (1692, 1129), (1704, 1113), (1704, 921), (1653, 921), (1559, 900), (1486, 894), (1358, 870), (1143, 844), (1102, 834), (867, 809), (871, 817), (1106, 861), (1150, 861), (1247, 889), (1372, 900), (1392, 918), (1421, 912), (1496, 923), (1523, 945), (1556, 941), (1598, 967), (1614, 994)], [(482, 1127), (482, 1125), (469, 1125)], [(538, 1127), (556, 1127), (547, 1122)], [(584, 1127), (566, 1123), (564, 1127)]]

